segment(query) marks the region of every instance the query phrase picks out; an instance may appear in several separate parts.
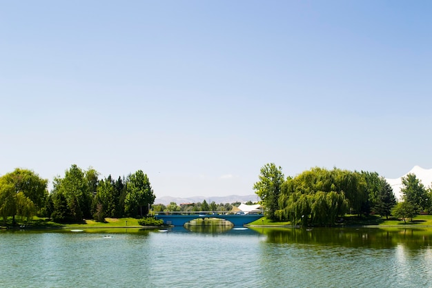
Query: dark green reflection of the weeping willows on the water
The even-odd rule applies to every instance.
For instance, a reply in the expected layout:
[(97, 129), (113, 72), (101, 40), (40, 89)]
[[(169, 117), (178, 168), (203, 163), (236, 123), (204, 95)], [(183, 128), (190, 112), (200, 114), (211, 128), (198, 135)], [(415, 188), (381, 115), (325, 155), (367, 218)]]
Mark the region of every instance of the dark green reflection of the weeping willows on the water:
[(430, 247), (432, 229), (315, 228), (255, 229), (268, 242), (338, 245), (344, 247), (391, 248), (403, 244), (411, 249)]

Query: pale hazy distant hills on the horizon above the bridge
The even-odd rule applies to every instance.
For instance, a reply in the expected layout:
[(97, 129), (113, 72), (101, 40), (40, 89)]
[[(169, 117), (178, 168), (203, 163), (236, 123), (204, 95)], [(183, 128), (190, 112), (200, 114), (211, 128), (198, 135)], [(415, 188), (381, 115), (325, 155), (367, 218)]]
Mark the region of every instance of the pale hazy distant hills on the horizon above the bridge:
[(219, 203), (233, 203), (233, 202), (257, 202), (259, 199), (257, 198), (257, 195), (229, 195), (229, 196), (214, 196), (214, 197), (202, 197), (202, 196), (196, 196), (196, 197), (188, 197), (188, 198), (179, 198), (179, 197), (171, 197), (171, 196), (164, 196), (164, 197), (157, 197), (155, 200), (155, 204), (164, 204), (168, 205), (170, 202), (175, 202), (177, 204), (181, 203), (196, 203), (196, 202), (203, 202), (206, 200), (207, 203), (211, 203), (215, 201), (217, 204)]

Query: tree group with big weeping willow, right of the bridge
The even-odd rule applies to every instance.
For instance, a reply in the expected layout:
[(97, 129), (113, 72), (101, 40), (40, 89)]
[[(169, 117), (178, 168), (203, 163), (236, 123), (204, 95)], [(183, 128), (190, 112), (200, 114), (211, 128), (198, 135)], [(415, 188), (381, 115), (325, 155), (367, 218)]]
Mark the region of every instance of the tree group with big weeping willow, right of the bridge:
[(312, 168), (295, 177), (284, 177), (282, 168), (266, 164), (253, 186), (266, 217), (292, 224), (331, 225), (347, 213), (389, 218), (412, 218), (432, 211), (432, 189), (424, 188), (414, 174), (402, 177), (402, 201), (376, 172)]

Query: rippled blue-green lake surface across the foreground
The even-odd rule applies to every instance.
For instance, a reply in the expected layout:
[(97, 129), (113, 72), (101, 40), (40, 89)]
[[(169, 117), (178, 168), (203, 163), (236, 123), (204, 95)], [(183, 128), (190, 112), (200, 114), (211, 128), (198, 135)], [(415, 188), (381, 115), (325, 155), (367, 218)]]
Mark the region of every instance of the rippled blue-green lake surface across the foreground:
[(432, 286), (432, 230), (209, 229), (0, 231), (0, 286)]

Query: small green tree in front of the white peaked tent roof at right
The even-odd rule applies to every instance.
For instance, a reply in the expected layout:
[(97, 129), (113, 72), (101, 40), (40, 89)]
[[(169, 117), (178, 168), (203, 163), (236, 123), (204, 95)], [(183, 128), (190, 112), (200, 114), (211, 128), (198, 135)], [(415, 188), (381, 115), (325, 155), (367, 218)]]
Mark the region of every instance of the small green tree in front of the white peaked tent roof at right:
[(402, 189), (400, 191), (404, 200), (416, 209), (424, 211), (429, 208), (430, 200), (427, 191), (415, 174), (409, 173), (405, 177), (402, 177)]

